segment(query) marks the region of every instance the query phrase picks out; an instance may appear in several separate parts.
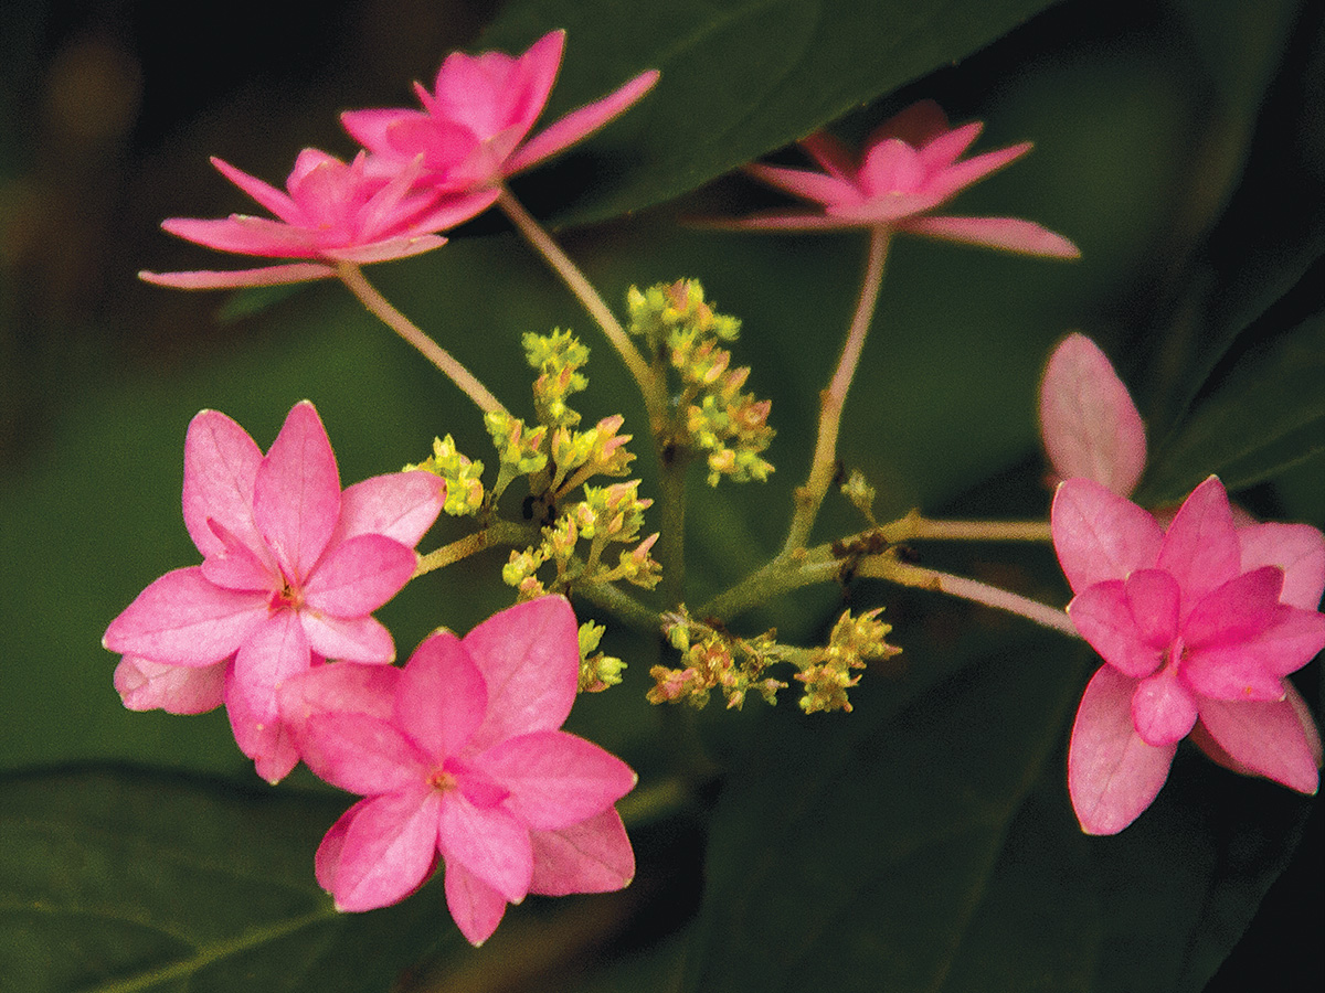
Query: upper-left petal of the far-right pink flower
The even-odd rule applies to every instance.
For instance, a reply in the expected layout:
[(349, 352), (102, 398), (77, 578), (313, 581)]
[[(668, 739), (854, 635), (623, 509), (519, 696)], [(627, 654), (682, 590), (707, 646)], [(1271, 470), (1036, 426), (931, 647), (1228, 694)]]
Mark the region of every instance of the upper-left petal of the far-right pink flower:
[(1049, 522), (1059, 564), (1077, 593), (1151, 568), (1163, 540), (1153, 516), (1093, 479), (1060, 483)]

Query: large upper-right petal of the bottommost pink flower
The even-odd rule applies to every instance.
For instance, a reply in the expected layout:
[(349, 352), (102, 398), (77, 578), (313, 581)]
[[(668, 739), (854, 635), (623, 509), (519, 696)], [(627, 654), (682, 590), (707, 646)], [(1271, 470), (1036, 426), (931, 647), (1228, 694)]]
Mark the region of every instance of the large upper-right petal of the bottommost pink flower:
[(566, 722), (579, 682), (579, 628), (564, 597), (496, 613), (465, 636), (464, 646), (488, 686), (488, 716), (468, 751)]

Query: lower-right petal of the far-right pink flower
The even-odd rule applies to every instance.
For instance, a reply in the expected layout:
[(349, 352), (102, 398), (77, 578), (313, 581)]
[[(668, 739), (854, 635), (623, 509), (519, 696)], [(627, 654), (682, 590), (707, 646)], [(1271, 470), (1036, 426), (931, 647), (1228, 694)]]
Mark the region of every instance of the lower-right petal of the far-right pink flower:
[(1264, 776), (1298, 793), (1314, 793), (1320, 776), (1312, 744), (1318, 747), (1320, 736), (1310, 716), (1305, 715), (1305, 723), (1302, 716), (1288, 699), (1200, 700), (1202, 726), (1238, 771)]

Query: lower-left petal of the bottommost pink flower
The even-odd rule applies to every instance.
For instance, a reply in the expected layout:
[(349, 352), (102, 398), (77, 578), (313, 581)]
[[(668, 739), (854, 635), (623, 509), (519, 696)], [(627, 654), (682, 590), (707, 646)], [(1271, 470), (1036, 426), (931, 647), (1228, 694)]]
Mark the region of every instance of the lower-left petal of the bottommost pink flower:
[(334, 865), (326, 875), (337, 910), (388, 907), (423, 886), (435, 863), (439, 806), (439, 794), (420, 788), (351, 808), (354, 817), (341, 837), (327, 834), (323, 843), (333, 851), (319, 859)]

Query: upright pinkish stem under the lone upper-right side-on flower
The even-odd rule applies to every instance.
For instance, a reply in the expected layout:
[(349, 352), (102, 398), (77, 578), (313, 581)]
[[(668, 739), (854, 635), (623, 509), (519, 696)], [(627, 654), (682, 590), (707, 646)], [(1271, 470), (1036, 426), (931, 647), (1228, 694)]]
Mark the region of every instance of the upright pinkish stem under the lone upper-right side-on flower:
[(847, 331), (841, 357), (837, 360), (837, 371), (828, 388), (820, 395), (819, 440), (815, 442), (810, 477), (806, 479), (806, 485), (796, 490), (796, 510), (791, 518), (791, 528), (787, 534), (787, 543), (783, 545), (783, 553), (804, 547), (810, 531), (815, 526), (815, 518), (819, 515), (819, 506), (823, 503), (836, 473), (837, 429), (841, 426), (841, 410), (847, 402), (851, 380), (856, 375), (856, 365), (860, 363), (860, 354), (865, 347), (865, 334), (874, 319), (874, 305), (878, 302), (878, 287), (884, 279), (884, 262), (888, 258), (890, 236), (892, 230), (886, 226), (871, 230), (869, 254), (865, 258), (865, 277), (860, 285), (860, 299), (856, 302), (856, 314)]

